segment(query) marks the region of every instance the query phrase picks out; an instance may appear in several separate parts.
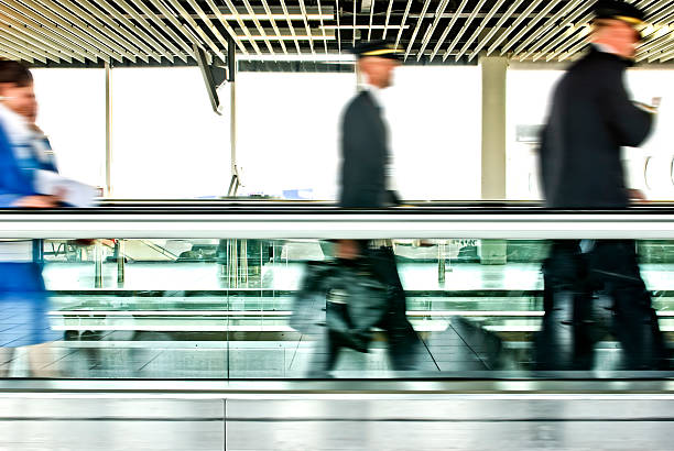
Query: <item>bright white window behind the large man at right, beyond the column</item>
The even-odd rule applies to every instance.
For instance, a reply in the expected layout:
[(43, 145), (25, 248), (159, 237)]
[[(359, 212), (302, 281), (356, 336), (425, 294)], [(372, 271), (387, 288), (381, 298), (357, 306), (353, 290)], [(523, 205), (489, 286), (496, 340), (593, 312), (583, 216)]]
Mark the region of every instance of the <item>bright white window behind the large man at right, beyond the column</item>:
[[(563, 70), (510, 70), (508, 73), (508, 198), (539, 199), (536, 150), (539, 127), (545, 123), (556, 81)], [(641, 189), (649, 200), (674, 199), (673, 161), (670, 143), (674, 130), (672, 70), (628, 70), (626, 85), (633, 100), (662, 101), (650, 138), (639, 147), (623, 150), (627, 185)]]

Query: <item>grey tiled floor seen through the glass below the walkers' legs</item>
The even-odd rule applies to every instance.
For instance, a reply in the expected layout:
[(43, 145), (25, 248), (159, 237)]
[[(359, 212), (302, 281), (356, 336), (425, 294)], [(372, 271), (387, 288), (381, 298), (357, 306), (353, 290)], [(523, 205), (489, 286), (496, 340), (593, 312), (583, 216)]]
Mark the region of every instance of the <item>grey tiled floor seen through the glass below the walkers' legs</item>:
[[(171, 334), (124, 337), (124, 333), (58, 341), (41, 349), (22, 348), (13, 355), (6, 352), (4, 359), (0, 359), (0, 374), (74, 378), (302, 378), (307, 376), (316, 352), (315, 342), (304, 337), (300, 341), (172, 341)], [(423, 341), (410, 375), (460, 377), (470, 376), (466, 372), (494, 369), (529, 374), (529, 343), (507, 345), (499, 354), (483, 339), (457, 324), (426, 334)], [(616, 343), (599, 343), (596, 370), (618, 369), (619, 358)], [(333, 375), (392, 377), (401, 373), (391, 372), (385, 343), (376, 341), (368, 353), (343, 350)]]

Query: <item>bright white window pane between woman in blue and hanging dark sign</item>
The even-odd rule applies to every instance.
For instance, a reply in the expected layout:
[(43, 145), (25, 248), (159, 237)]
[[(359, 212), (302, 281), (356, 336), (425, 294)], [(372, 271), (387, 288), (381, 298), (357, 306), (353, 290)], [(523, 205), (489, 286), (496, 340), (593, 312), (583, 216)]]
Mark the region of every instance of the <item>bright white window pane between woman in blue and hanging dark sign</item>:
[[(220, 99), (228, 103), (229, 94)], [(196, 67), (113, 69), (113, 197), (225, 195), (230, 177), (229, 108), (225, 111), (221, 117), (213, 111)]]

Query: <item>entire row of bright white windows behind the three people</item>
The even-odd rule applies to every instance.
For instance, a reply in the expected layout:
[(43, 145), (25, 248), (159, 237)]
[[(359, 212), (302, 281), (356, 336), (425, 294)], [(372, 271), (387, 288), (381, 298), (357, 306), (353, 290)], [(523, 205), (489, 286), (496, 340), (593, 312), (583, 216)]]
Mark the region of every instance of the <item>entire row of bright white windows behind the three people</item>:
[[(507, 75), (504, 200), (539, 200), (535, 141), (526, 128), (545, 122), (563, 67), (513, 66)], [(634, 99), (663, 98), (659, 124), (674, 116), (672, 70), (649, 66), (628, 73)], [(34, 73), (39, 122), (48, 132), (61, 170), (104, 186), (104, 69)], [(479, 199), (479, 66), (403, 66), (394, 84), (382, 95), (402, 197)], [(239, 73), (241, 194), (335, 199), (339, 116), (356, 87), (352, 73)], [(227, 103), (228, 86), (221, 91), (220, 99)], [(213, 113), (198, 68), (113, 68), (111, 105), (113, 198), (216, 198), (226, 194), (229, 119)], [(650, 200), (674, 198), (667, 169), (674, 156), (671, 143), (671, 128), (656, 127), (642, 147), (627, 150), (624, 155), (630, 186), (642, 189)]]

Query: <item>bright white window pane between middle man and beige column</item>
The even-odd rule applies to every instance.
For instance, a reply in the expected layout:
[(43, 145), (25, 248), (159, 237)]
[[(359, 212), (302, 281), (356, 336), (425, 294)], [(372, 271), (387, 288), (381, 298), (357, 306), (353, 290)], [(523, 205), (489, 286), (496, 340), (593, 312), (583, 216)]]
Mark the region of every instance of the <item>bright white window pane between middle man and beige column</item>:
[(479, 199), (478, 66), (401, 67), (387, 102), (393, 172), (404, 199)]

